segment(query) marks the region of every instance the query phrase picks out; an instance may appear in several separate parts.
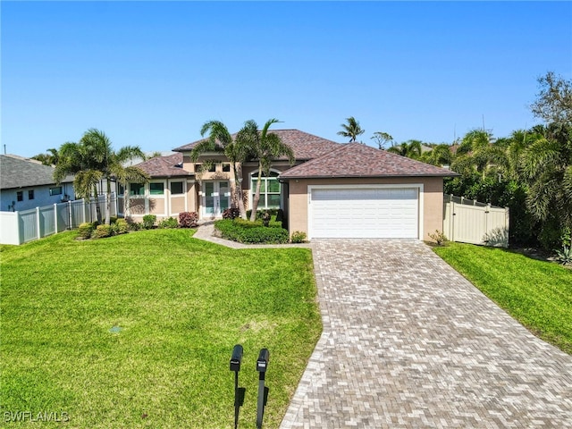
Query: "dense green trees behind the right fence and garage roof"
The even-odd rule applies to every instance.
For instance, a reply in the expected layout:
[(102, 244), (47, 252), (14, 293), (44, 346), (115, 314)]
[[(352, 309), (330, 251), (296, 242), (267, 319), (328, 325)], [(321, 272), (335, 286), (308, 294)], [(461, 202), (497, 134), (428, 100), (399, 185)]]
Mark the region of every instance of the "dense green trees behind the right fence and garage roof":
[[(470, 130), (452, 145), (421, 140), (393, 142), (378, 131), (379, 148), (427, 164), (449, 166), (444, 192), (510, 208), (510, 243), (547, 250), (572, 244), (572, 81), (550, 71), (538, 79), (532, 105), (543, 123), (494, 139), (489, 130)], [(350, 117), (340, 135), (356, 141), (363, 134)]]

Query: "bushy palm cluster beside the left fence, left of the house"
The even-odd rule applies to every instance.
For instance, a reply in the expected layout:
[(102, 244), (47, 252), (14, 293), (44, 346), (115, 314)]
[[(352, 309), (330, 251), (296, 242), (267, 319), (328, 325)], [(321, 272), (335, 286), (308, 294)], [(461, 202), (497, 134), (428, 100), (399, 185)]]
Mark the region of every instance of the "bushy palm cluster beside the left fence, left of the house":
[[(98, 198), (97, 183), (105, 179), (107, 184), (105, 224), (111, 223), (111, 181), (126, 187), (129, 181), (147, 181), (147, 173), (136, 166), (123, 166), (132, 158), (145, 158), (139, 147), (122, 147), (115, 152), (111, 141), (100, 130), (90, 129), (84, 133), (79, 143), (64, 143), (60, 147), (59, 162), (55, 166), (54, 178), (59, 182), (66, 174), (75, 174), (73, 186), (80, 198)], [(96, 206), (97, 221), (101, 222), (99, 205)]]

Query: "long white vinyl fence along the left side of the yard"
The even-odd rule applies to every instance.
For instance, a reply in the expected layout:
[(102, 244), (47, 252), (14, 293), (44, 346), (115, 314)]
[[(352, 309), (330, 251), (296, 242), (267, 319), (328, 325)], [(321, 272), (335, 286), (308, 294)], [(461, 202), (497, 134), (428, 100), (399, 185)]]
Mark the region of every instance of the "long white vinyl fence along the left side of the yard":
[[(111, 196), (111, 216), (117, 215), (117, 198)], [(105, 219), (105, 195), (98, 201), (78, 199), (22, 210), (21, 212), (0, 212), (0, 244), (20, 245), (39, 240), (65, 230), (72, 230), (84, 222), (97, 220), (97, 206), (101, 218)]]

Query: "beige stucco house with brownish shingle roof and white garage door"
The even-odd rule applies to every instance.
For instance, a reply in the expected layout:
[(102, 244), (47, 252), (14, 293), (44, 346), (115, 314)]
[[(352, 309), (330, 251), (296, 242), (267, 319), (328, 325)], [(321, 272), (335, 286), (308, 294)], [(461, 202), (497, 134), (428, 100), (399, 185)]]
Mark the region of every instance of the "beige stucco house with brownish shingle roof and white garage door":
[[(309, 240), (427, 240), (427, 234), (442, 230), (443, 178), (455, 173), (360, 143), (336, 143), (300, 130), (272, 132), (292, 148), (296, 164), (286, 158), (273, 162), (258, 208), (282, 208), (290, 233), (304, 231)], [(191, 211), (199, 219), (219, 218), (232, 205), (236, 185), (251, 208), (257, 161), (243, 165), (238, 184), (220, 153), (204, 154), (193, 163), (190, 152), (197, 143), (138, 164), (151, 181), (130, 184), (128, 215), (162, 218)], [(208, 171), (201, 168), (204, 163)]]

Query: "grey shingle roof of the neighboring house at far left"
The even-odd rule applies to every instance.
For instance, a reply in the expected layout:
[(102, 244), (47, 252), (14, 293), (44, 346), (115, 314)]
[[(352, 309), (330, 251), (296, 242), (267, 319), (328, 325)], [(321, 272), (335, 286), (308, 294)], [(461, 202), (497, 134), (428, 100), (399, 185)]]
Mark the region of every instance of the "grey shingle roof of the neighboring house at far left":
[[(0, 155), (0, 189), (54, 185), (55, 168), (15, 155)], [(69, 175), (62, 183), (73, 181)]]

